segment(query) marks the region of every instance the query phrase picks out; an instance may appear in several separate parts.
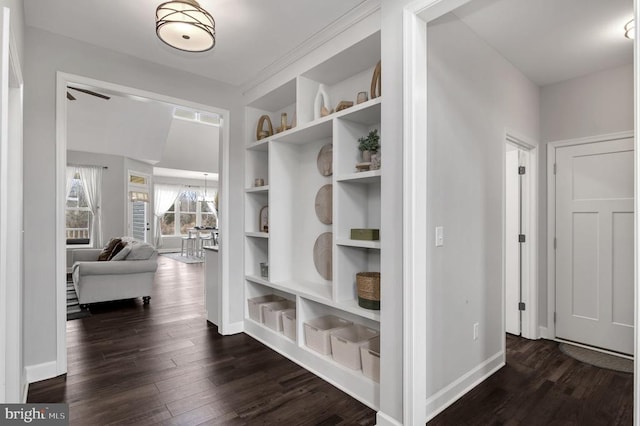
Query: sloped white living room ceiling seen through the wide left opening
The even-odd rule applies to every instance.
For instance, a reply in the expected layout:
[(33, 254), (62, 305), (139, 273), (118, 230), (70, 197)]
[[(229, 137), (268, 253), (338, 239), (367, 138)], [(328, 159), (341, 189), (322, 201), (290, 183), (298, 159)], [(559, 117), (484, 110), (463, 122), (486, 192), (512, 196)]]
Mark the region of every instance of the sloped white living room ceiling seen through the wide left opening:
[(172, 105), (89, 89), (111, 99), (69, 90), (76, 100), (67, 101), (67, 149), (175, 169), (163, 176), (201, 178), (202, 173), (218, 173), (218, 126), (176, 119)]

